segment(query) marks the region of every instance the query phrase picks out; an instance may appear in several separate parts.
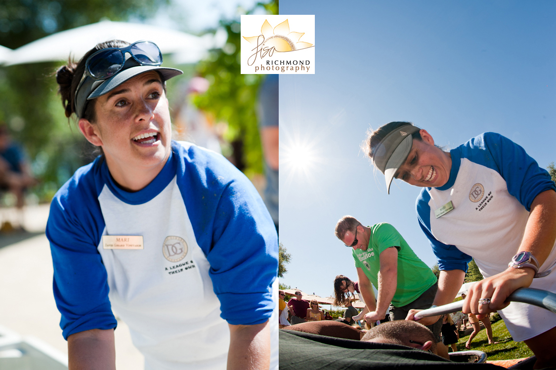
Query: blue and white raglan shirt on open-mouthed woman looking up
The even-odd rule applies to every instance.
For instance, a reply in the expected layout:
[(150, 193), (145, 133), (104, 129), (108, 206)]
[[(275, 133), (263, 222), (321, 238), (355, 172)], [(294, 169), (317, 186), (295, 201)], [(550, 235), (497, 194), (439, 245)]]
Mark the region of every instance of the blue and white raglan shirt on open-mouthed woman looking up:
[[(212, 151), (172, 142), (137, 192), (99, 157), (57, 192), (46, 232), (66, 339), (115, 328), (113, 309), (146, 369), (225, 369), (228, 323), (277, 321), (276, 229), (249, 179)], [(126, 236), (142, 249), (108, 249)]]

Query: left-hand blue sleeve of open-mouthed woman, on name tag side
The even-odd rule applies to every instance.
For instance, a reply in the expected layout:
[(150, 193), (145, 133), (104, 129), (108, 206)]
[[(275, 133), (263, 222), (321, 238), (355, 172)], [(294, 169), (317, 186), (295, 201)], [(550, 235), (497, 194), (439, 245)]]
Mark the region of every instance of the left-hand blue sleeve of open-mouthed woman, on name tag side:
[(97, 251), (104, 229), (100, 207), (92, 196), (97, 193), (94, 184), (78, 182), (76, 173), (57, 192), (46, 228), (54, 266), (54, 300), (62, 314), (65, 339), (73, 333), (117, 325), (108, 300), (106, 269)]

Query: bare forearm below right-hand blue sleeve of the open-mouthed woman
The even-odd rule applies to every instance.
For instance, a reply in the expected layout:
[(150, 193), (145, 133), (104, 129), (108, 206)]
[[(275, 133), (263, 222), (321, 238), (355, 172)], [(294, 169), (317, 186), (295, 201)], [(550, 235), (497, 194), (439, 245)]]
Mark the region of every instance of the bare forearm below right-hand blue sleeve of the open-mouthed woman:
[(270, 366), (270, 328), (265, 321), (257, 325), (231, 325), (227, 370), (266, 370)]

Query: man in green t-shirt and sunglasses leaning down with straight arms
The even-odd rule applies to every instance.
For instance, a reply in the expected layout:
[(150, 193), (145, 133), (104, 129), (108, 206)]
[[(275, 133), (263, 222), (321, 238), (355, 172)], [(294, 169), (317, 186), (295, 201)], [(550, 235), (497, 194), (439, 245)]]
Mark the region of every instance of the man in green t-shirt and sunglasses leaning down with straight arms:
[[(359, 290), (370, 311), (366, 321), (384, 320), (389, 306), (390, 320), (394, 321), (404, 320), (411, 308), (433, 304), (438, 290), (436, 276), (394, 226), (382, 223), (365, 227), (355, 217), (344, 216), (336, 224), (335, 234), (353, 248)], [(378, 290), (376, 300), (371, 283)], [(441, 327), (441, 320), (429, 326), (438, 342)]]

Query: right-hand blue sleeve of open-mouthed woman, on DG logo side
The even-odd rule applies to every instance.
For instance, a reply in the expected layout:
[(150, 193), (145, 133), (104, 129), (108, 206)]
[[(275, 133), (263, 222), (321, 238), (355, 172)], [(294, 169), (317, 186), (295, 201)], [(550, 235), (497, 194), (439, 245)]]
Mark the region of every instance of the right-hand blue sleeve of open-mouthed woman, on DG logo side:
[[(211, 266), (221, 317), (232, 325), (263, 323), (275, 306), (271, 291), (278, 271), (274, 223), (251, 181), (224, 157), (197, 147), (187, 155), (195, 165), (189, 165), (184, 179), (201, 194), (182, 194), (192, 212), (197, 243)], [(196, 179), (202, 183), (191, 183)]]

